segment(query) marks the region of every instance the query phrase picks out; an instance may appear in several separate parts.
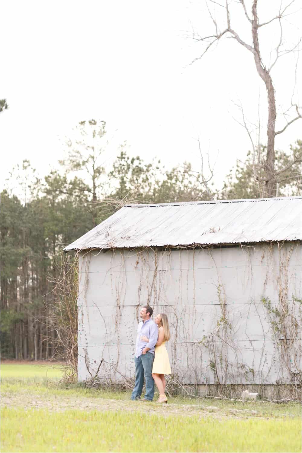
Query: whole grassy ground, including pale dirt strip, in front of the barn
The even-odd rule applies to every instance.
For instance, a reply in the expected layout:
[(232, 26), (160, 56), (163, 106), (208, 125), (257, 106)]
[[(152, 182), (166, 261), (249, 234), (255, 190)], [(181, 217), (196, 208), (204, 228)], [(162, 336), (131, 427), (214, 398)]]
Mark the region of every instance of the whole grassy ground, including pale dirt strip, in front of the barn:
[(60, 368), (1, 365), (2, 452), (301, 452), (301, 405), (58, 385)]

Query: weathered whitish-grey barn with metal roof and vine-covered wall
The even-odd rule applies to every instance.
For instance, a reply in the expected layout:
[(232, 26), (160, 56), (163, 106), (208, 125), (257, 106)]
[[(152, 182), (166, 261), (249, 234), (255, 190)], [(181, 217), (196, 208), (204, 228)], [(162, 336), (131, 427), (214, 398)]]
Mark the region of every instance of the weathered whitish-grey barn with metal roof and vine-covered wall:
[(299, 392), (300, 214), (301, 197), (127, 205), (67, 246), (79, 251), (79, 381), (98, 368), (106, 380), (134, 377), (149, 304), (168, 315), (183, 384)]

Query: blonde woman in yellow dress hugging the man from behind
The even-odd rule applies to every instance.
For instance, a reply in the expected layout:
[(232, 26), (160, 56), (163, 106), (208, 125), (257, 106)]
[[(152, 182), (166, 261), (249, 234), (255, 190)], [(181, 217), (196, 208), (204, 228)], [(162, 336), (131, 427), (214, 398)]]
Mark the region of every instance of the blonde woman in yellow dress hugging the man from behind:
[[(170, 329), (167, 315), (159, 313), (156, 315), (154, 322), (158, 325), (158, 341), (155, 345), (155, 356), (152, 368), (152, 377), (159, 391), (158, 403), (167, 403), (165, 395), (166, 381), (165, 374), (171, 374), (169, 356), (166, 349), (166, 341), (170, 339)], [(149, 342), (149, 338), (143, 335), (142, 341)]]

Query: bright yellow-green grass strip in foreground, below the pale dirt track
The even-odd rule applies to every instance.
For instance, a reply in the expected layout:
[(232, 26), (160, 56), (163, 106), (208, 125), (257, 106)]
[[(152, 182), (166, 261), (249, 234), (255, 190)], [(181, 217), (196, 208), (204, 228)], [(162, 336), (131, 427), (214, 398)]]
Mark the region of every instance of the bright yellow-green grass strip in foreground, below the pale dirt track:
[(5, 408), (1, 424), (2, 452), (301, 451), (300, 423), (291, 419), (163, 419), (121, 411), (52, 414)]

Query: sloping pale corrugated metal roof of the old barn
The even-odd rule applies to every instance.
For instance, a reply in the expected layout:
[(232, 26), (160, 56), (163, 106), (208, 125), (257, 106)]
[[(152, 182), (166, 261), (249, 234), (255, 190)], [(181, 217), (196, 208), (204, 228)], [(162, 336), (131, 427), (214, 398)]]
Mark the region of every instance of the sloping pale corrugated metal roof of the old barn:
[(301, 197), (126, 205), (64, 250), (301, 239)]

